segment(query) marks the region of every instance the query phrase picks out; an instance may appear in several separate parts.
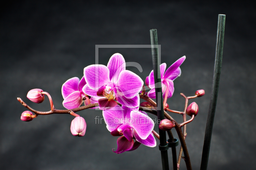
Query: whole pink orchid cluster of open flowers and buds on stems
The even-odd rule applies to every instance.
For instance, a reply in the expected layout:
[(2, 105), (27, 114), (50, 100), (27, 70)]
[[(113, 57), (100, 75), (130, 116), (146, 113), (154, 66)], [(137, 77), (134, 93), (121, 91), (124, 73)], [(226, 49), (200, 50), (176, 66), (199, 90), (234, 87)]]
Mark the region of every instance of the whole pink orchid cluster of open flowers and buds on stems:
[[(184, 112), (172, 111), (166, 103), (167, 98), (172, 97), (174, 91), (173, 80), (180, 76), (180, 65), (184, 62), (185, 58), (183, 56), (178, 59), (166, 71), (166, 63), (160, 65), (164, 110), (180, 113), (183, 116), (186, 115), (185, 113), (192, 116), (189, 121), (181, 123), (180, 127), (191, 122), (198, 113), (198, 106), (195, 102), (191, 103)], [(143, 96), (152, 99), (156, 98), (155, 88), (157, 86), (154, 81), (154, 72), (152, 70), (146, 78), (145, 83), (151, 89), (146, 93), (142, 79), (132, 71), (125, 70), (125, 66), (124, 57), (116, 53), (110, 57), (107, 66), (100, 64), (89, 65), (84, 68), (84, 76), (81, 80), (77, 77), (68, 79), (61, 88), (64, 99), (63, 106), (69, 109), (66, 111), (57, 111), (54, 108), (49, 93), (41, 89), (30, 90), (27, 97), (35, 103), (43, 102), (44, 94), (47, 95), (50, 100), (51, 111), (44, 113), (30, 109), (35, 115), (32, 112), (25, 111), (21, 115), (21, 120), (26, 122), (32, 121), (38, 114), (47, 115), (53, 114), (54, 112), (68, 113), (76, 116), (71, 122), (71, 133), (74, 136), (82, 137), (85, 135), (86, 122), (83, 117), (80, 117), (75, 112), (79, 111), (79, 108), (84, 103), (84, 107), (87, 106), (91, 109), (99, 108), (102, 110), (110, 134), (119, 137), (117, 139), (117, 149), (116, 151), (113, 150), (113, 152), (123, 153), (125, 151), (133, 151), (140, 144), (155, 147), (156, 139), (154, 135), (156, 137), (158, 136), (158, 139), (159, 135), (153, 130), (154, 122), (146, 112), (139, 110), (139, 106), (154, 109), (156, 105), (154, 102), (152, 103), (153, 100), (151, 100), (151, 103), (149, 101), (140, 103), (141, 96), (142, 98)], [(186, 98), (185, 106), (188, 104), (188, 99), (203, 95), (204, 90), (196, 91), (196, 96), (186, 97), (184, 95)], [(30, 108), (20, 98), (17, 99), (23, 106)], [(159, 129), (170, 130), (174, 126), (173, 121), (164, 119), (160, 122)]]

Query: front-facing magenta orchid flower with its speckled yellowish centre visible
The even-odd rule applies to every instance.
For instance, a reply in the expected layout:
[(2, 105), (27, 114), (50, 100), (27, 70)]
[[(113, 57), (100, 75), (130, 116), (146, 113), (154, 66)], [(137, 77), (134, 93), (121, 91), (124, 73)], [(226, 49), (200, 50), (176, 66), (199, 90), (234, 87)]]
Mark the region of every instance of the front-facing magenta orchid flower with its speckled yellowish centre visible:
[(84, 78), (87, 84), (83, 92), (98, 99), (101, 110), (115, 107), (115, 100), (127, 107), (140, 105), (139, 92), (143, 81), (135, 73), (125, 70), (124, 57), (119, 53), (110, 57), (107, 66), (94, 64), (85, 67)]

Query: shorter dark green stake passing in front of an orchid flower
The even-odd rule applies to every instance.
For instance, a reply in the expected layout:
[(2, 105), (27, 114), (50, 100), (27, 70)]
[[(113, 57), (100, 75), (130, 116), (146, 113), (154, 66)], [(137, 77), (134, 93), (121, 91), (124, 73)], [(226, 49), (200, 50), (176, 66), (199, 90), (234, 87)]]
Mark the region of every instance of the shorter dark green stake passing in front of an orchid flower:
[[(160, 63), (159, 63), (159, 56), (158, 56), (158, 41), (157, 41), (156, 29), (150, 30), (150, 40), (151, 40), (151, 52), (152, 52), (152, 60), (153, 60), (155, 85), (157, 86), (158, 84), (160, 84), (158, 85), (158, 87), (156, 87), (156, 105), (158, 108), (159, 108), (159, 105), (161, 106), (161, 110), (157, 109), (157, 119), (163, 120), (164, 105), (163, 105), (163, 97), (162, 97), (163, 94), (162, 94), (162, 87), (161, 87)], [(160, 103), (158, 102), (158, 100)], [(169, 170), (168, 153), (167, 153), (167, 150), (169, 149), (169, 147), (166, 144), (165, 131), (159, 129), (159, 136), (160, 136), (159, 150), (161, 151), (163, 170)]]

